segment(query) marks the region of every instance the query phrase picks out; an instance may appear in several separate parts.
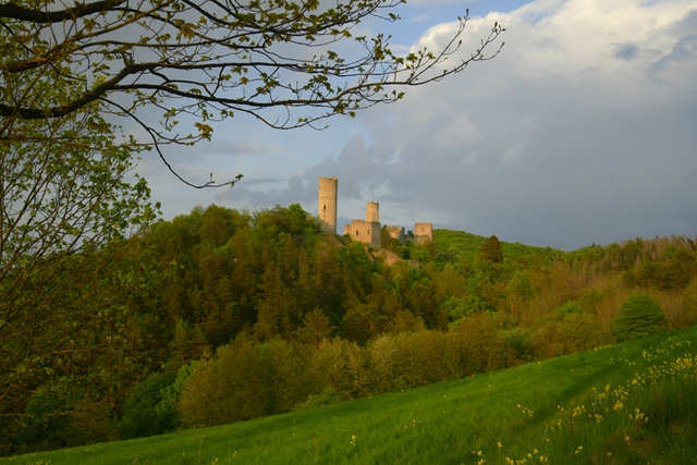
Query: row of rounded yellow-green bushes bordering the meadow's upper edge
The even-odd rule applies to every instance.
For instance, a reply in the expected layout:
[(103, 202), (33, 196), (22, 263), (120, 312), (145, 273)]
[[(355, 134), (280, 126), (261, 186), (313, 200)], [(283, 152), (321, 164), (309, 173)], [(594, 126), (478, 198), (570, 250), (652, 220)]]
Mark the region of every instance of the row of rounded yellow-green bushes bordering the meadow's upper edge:
[(470, 376), (514, 360), (487, 314), (456, 331), (383, 333), (364, 347), (339, 338), (304, 351), (282, 340), (236, 341), (194, 366), (179, 405), (188, 425), (219, 425)]

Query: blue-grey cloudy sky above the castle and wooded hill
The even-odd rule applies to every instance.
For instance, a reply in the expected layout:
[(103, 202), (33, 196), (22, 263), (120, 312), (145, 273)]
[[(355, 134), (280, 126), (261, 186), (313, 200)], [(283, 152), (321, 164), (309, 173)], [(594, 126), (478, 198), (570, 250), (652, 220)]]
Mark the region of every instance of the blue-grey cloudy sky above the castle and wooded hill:
[(191, 188), (145, 154), (162, 218), (210, 204), (317, 215), (319, 176), (337, 176), (340, 233), (378, 201), (382, 224), (564, 250), (697, 234), (697, 0), (412, 0), (398, 23), (360, 27), (395, 51), (438, 50), (466, 9), (460, 57), (498, 22), (493, 60), (322, 131), (235, 117), (166, 150), (192, 182), (242, 173), (232, 188)]

